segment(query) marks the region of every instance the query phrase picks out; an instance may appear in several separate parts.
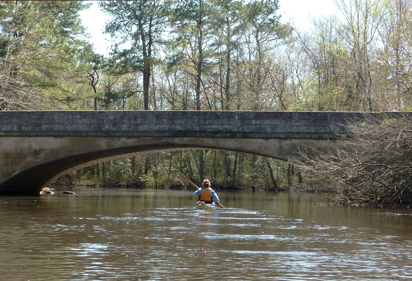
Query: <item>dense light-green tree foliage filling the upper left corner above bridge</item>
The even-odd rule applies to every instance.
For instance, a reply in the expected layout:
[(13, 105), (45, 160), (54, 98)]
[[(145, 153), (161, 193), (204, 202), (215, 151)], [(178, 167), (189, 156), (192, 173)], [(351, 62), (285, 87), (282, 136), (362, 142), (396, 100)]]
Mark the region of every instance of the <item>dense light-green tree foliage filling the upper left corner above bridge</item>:
[[(61, 108), (81, 84), (81, 2), (2, 1), (0, 109)], [(65, 77), (63, 79), (62, 77)], [(81, 87), (81, 85), (80, 85)], [(69, 98), (63, 98), (69, 97)], [(58, 102), (56, 102), (58, 101)]]

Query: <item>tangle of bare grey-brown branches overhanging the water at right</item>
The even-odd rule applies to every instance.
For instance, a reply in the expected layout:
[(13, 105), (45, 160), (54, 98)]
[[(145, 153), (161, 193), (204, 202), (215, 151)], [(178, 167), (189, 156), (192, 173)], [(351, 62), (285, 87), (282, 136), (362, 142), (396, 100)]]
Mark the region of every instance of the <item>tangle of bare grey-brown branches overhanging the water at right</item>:
[(328, 187), (331, 204), (412, 204), (412, 128), (408, 120), (371, 118), (348, 125), (350, 142), (297, 163), (305, 186)]

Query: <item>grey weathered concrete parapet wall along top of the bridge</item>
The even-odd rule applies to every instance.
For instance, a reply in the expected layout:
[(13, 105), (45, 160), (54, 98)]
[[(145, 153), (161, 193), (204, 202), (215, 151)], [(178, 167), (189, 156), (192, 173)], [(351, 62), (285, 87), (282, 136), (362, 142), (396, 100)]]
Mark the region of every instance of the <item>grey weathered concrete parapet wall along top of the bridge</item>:
[(334, 138), (364, 113), (281, 111), (5, 111), (0, 136)]

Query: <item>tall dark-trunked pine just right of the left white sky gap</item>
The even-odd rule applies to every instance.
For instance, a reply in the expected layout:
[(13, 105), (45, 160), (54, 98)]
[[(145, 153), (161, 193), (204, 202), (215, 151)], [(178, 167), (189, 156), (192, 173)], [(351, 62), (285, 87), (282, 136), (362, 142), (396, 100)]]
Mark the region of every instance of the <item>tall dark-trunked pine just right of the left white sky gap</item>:
[(100, 5), (112, 16), (105, 32), (118, 39), (113, 54), (114, 66), (120, 74), (142, 73), (144, 109), (149, 110), (155, 51), (166, 23), (165, 1), (102, 1)]

